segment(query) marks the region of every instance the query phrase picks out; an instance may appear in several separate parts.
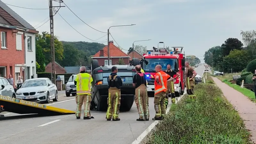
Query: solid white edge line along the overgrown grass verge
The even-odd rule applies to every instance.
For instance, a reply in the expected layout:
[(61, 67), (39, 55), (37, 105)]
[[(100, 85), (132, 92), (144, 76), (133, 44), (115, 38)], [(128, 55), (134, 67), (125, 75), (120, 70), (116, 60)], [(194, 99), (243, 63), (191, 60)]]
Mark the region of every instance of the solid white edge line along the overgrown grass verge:
[[(204, 71), (203, 71), (203, 74), (204, 74)], [(187, 92), (184, 92), (184, 94), (186, 94), (186, 93), (187, 93)], [(184, 96), (184, 94), (183, 94), (182, 96), (180, 96), (180, 97), (177, 99), (177, 102), (181, 100), (181, 98)], [(177, 102), (175, 102), (175, 103), (177, 103)], [(169, 113), (170, 109), (171, 109), (171, 106), (166, 109), (166, 114)], [(160, 121), (154, 121), (152, 124), (150, 124), (149, 127), (148, 127), (144, 132), (142, 132), (142, 133), (140, 134), (140, 136), (139, 136), (136, 140), (134, 140), (134, 141), (132, 142), (132, 144), (139, 144), (140, 142), (142, 142), (142, 140), (148, 135), (148, 133), (150, 133), (150, 132), (152, 131), (152, 129), (153, 129), (153, 128), (156, 126), (156, 124), (158, 124), (159, 122), (160, 122)]]

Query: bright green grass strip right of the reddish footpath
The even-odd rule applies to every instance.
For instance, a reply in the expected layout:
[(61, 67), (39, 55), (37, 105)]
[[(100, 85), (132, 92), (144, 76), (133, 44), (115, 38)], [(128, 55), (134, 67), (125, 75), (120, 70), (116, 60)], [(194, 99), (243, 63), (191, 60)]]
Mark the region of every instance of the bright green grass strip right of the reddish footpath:
[[(241, 75), (241, 73), (233, 73), (233, 75)], [(245, 95), (252, 101), (256, 102), (254, 92), (252, 92), (247, 88), (241, 88), (241, 86), (237, 84), (232, 84), (232, 82), (230, 82), (231, 80), (233, 80), (233, 75), (229, 73), (229, 74), (225, 74), (225, 76), (215, 76), (215, 77), (220, 79), (223, 83), (228, 84), (228, 86), (232, 87), (236, 91), (241, 92), (243, 95)]]

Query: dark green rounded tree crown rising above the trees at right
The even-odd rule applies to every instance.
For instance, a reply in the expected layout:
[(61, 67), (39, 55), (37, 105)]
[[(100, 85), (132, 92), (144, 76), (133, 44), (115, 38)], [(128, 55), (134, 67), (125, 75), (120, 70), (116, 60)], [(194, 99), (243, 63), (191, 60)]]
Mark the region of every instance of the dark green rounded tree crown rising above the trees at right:
[(221, 45), (221, 50), (222, 50), (222, 54), (223, 54), (223, 57), (227, 56), (229, 54), (230, 51), (232, 50), (241, 50), (243, 49), (243, 46), (244, 44), (239, 41), (237, 38), (228, 38), (226, 41), (225, 41), (225, 44), (222, 44)]

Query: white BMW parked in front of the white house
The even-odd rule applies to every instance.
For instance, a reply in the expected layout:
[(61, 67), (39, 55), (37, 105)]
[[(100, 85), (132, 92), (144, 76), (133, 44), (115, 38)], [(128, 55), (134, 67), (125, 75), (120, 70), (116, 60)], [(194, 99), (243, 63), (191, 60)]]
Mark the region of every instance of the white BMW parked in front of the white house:
[(49, 78), (28, 79), (17, 90), (16, 99), (44, 103), (58, 101), (57, 86)]

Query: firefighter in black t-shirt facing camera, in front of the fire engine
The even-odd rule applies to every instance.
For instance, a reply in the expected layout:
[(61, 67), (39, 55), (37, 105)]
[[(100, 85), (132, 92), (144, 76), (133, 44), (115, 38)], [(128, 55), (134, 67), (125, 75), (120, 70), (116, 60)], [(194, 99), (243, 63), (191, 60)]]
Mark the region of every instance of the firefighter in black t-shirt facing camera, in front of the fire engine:
[[(165, 73), (168, 74), (169, 76), (173, 77), (174, 79), (176, 79), (177, 77), (180, 76), (179, 73), (177, 73), (176, 71), (172, 70), (171, 69), (171, 65), (168, 64), (167, 65), (167, 70), (165, 70)], [(176, 75), (174, 77), (174, 75)], [(175, 89), (174, 89), (174, 81), (170, 81), (167, 83), (167, 90), (166, 90), (166, 97), (165, 97), (165, 105), (166, 105), (166, 108), (167, 108), (167, 105), (168, 105), (168, 98), (169, 98), (169, 92), (171, 93), (171, 100), (172, 100), (172, 103), (175, 104)]]

